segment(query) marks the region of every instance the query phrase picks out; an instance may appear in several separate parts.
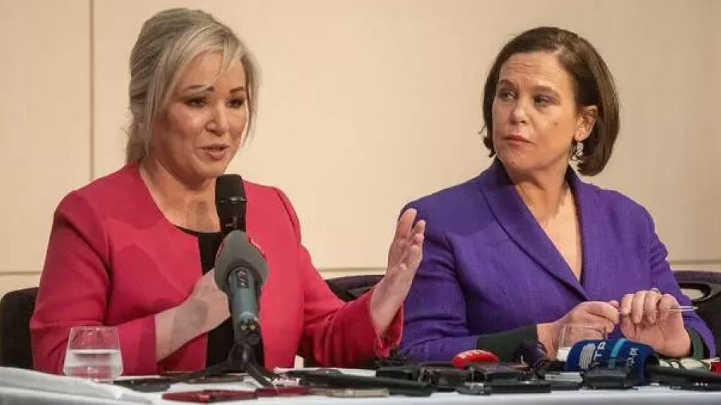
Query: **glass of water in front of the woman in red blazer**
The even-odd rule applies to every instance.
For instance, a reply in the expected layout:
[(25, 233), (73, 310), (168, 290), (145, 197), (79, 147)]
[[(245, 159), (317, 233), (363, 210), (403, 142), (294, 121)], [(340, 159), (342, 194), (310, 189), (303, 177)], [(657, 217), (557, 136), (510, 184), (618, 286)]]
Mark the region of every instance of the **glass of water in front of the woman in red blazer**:
[(118, 329), (112, 326), (75, 326), (70, 329), (63, 373), (105, 382), (123, 374)]

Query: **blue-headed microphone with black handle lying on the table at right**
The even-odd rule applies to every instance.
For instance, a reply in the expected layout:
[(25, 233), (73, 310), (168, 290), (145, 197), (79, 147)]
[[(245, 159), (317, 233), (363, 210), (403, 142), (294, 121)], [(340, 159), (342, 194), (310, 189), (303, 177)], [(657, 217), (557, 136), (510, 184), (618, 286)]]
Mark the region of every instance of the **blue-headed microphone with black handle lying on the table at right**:
[(652, 347), (624, 338), (583, 340), (571, 347), (565, 371), (580, 372), (594, 368), (625, 369), (628, 377), (636, 384), (651, 381), (670, 384), (721, 383), (721, 375), (659, 365), (658, 354)]

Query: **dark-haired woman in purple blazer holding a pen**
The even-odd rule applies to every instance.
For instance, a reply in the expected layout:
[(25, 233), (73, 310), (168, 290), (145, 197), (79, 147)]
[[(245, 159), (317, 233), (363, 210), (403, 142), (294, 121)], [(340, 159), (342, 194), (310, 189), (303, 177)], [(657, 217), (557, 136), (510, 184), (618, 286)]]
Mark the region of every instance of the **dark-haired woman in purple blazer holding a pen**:
[(523, 340), (553, 357), (564, 324), (603, 328), (668, 357), (709, 357), (711, 332), (678, 288), (647, 210), (587, 184), (611, 157), (619, 102), (606, 63), (573, 32), (541, 27), (500, 51), (483, 95), (478, 177), (410, 204), (426, 220), (402, 352), (449, 360)]

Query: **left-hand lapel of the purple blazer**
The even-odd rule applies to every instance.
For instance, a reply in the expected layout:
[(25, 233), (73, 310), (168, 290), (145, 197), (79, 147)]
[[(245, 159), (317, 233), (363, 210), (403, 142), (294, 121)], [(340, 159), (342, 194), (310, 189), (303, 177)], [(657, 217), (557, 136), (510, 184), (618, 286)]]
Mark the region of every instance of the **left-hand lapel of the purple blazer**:
[(518, 195), (498, 159), (480, 179), (482, 192), (500, 226), (544, 270), (586, 299), (573, 272)]

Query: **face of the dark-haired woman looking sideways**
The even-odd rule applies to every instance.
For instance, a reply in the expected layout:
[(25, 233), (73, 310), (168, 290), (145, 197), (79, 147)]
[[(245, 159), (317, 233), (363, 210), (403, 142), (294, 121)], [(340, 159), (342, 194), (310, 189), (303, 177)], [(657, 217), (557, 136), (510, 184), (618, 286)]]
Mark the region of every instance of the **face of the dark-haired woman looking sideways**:
[(507, 169), (565, 172), (573, 141), (585, 140), (593, 128), (593, 115), (579, 114), (574, 90), (553, 53), (516, 53), (501, 66), (492, 139)]

